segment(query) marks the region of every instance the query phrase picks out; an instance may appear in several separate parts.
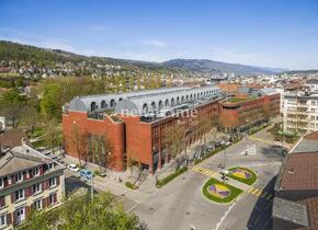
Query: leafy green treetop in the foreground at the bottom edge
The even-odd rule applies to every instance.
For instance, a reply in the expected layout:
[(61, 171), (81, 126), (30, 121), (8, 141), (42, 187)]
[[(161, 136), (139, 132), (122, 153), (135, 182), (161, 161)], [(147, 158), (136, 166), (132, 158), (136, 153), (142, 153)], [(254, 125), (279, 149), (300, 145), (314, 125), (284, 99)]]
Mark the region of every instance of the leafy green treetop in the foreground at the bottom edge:
[(123, 204), (110, 193), (94, 197), (72, 196), (61, 207), (48, 211), (33, 211), (22, 229), (109, 229), (146, 230), (147, 226), (136, 215), (125, 212)]

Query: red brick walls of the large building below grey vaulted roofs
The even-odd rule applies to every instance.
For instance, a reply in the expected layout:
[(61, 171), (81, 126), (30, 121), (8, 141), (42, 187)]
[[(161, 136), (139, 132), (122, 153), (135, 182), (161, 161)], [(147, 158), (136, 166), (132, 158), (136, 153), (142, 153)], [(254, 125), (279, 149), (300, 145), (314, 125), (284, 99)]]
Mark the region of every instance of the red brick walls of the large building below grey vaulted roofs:
[[(218, 114), (218, 101), (195, 107), (198, 117), (212, 117)], [(127, 156), (148, 168), (150, 173), (160, 169), (168, 156), (164, 156), (162, 139), (167, 127), (177, 123), (185, 124), (189, 133), (194, 134), (195, 118), (189, 116), (168, 116), (154, 122), (143, 122), (140, 116), (116, 115), (118, 122), (110, 116), (103, 119), (90, 118), (87, 112), (69, 112), (63, 115), (63, 131), (67, 154), (79, 158), (75, 142), (73, 127), (83, 137), (89, 134), (106, 136), (113, 146), (112, 158), (106, 165), (114, 171), (125, 169)], [(197, 135), (197, 134), (196, 134)], [(189, 136), (189, 143), (197, 137)]]

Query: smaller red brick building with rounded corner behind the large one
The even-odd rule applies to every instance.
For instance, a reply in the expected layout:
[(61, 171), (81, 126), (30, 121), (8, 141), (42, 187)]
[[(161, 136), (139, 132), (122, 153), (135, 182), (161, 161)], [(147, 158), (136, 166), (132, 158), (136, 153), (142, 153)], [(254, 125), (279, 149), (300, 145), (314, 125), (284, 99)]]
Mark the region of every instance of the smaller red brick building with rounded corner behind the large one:
[(241, 133), (280, 114), (281, 94), (272, 89), (242, 89), (219, 103), (219, 124), (226, 133)]

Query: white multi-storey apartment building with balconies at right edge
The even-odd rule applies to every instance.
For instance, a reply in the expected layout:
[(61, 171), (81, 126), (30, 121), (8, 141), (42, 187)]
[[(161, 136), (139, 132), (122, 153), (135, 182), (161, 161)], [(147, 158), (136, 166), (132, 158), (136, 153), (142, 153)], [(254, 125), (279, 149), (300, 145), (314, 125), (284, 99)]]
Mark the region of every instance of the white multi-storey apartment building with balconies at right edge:
[(285, 93), (282, 115), (285, 131), (318, 130), (318, 92)]

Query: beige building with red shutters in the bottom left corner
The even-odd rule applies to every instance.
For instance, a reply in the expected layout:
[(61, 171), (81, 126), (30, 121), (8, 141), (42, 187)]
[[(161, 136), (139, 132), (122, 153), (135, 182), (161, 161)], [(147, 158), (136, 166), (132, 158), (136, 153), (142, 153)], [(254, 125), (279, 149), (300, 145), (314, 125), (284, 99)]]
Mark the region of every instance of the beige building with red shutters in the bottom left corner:
[(0, 156), (0, 229), (13, 229), (32, 209), (50, 209), (64, 197), (64, 166), (23, 145)]

